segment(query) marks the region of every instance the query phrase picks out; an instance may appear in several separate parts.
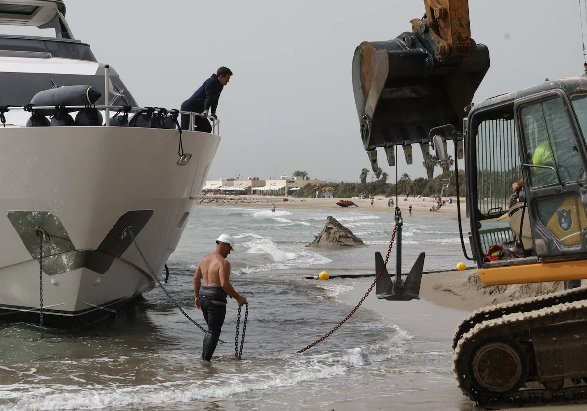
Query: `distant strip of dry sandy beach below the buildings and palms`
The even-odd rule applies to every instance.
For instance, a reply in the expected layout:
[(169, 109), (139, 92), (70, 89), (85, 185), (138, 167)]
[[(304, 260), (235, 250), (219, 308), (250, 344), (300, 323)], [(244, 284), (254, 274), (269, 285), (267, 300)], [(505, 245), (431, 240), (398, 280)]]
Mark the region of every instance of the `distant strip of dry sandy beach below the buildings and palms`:
[[(210, 207), (249, 207), (249, 208), (271, 208), (275, 203), (276, 208), (285, 210), (349, 210), (349, 211), (367, 211), (370, 213), (393, 213), (394, 207), (388, 206), (388, 200), (391, 197), (375, 197), (373, 207), (369, 198), (352, 198), (351, 200), (359, 207), (342, 208), (336, 204), (341, 198), (303, 198), (303, 197), (272, 197), (272, 196), (215, 196), (205, 195), (200, 198), (198, 206)], [(343, 199), (345, 200), (345, 199)], [(395, 201), (395, 197), (392, 198)], [(446, 217), (455, 217), (457, 215), (457, 199), (453, 197), (453, 204), (448, 201), (445, 206), (438, 211), (430, 211), (430, 208), (436, 202), (431, 197), (413, 198), (400, 196), (397, 199), (403, 214), (409, 213), (409, 207), (412, 206), (413, 214), (430, 214), (444, 215)], [(461, 215), (465, 215), (465, 201), (461, 200)]]

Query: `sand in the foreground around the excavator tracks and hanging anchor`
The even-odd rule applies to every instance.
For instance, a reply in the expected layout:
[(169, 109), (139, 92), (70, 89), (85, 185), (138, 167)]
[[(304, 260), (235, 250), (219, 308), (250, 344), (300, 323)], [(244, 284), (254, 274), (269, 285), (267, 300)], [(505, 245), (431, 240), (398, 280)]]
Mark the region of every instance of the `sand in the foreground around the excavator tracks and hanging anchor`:
[[(426, 274), (423, 277), (420, 301), (395, 302), (377, 300), (375, 290), (367, 297), (363, 307), (374, 309), (384, 315), (384, 322), (405, 329), (414, 339), (423, 341), (415, 348), (426, 350), (426, 341), (440, 342), (445, 349), (450, 349), (454, 330), (458, 322), (476, 308), (491, 305), (494, 302), (508, 301), (516, 297), (516, 292), (525, 294), (527, 285), (502, 288), (501, 292), (491, 292), (471, 278), (475, 271)], [(353, 280), (355, 281), (355, 280)], [(341, 302), (354, 306), (365, 294), (373, 278), (360, 279), (355, 288), (339, 295)], [(522, 287), (522, 291), (519, 288)], [(561, 284), (536, 284), (531, 291), (537, 294), (549, 292), (550, 289), (562, 288)], [(457, 388), (456, 380), (442, 388), (420, 389), (410, 393), (393, 395), (389, 393), (366, 393), (364, 398), (332, 403), (336, 411), (357, 410), (410, 410), (410, 411), (473, 411), (478, 410), (473, 403)], [(519, 408), (511, 408), (519, 409)], [(585, 405), (541, 406), (534, 409), (585, 410)]]

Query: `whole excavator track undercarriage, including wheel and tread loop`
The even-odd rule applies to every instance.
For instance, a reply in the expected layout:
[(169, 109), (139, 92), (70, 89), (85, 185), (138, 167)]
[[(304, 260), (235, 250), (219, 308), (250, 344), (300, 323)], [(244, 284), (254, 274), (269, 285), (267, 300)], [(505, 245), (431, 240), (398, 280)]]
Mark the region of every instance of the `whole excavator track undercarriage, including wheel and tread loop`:
[[(587, 403), (587, 385), (581, 382), (587, 380), (587, 369), (582, 362), (584, 354), (576, 357), (575, 375), (552, 376), (553, 369), (565, 369), (565, 354), (575, 361), (572, 345), (565, 351), (565, 338), (575, 343), (579, 353), (584, 351), (587, 299), (548, 305), (554, 301), (552, 298), (567, 295), (576, 298), (581, 291), (585, 290), (547, 295), (541, 299), (546, 304), (543, 308), (502, 314), (478, 322), (463, 333), (454, 350), (453, 370), (464, 395), (483, 407)], [(527, 304), (521, 306), (528, 307)], [(504, 304), (500, 309), (511, 306), (514, 310), (517, 305)], [(495, 313), (491, 309), (486, 311)], [(469, 318), (479, 318), (479, 315)], [(535, 346), (540, 341), (538, 351)], [(541, 381), (543, 388), (533, 388), (538, 386), (539, 369), (547, 369), (549, 376)], [(571, 378), (573, 385), (564, 387), (565, 379)], [(527, 383), (531, 382), (534, 384), (528, 388)]]

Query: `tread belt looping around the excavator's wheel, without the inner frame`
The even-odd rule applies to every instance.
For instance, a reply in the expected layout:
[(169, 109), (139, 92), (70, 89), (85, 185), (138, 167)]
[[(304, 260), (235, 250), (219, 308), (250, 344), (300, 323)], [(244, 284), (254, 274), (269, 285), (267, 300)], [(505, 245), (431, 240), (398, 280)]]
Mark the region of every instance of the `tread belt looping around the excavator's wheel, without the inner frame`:
[[(555, 293), (560, 294), (560, 293)], [(578, 385), (560, 390), (522, 389), (513, 394), (493, 395), (478, 392), (471, 380), (469, 363), (474, 349), (494, 337), (587, 318), (587, 300), (546, 306), (528, 312), (515, 312), (477, 324), (458, 341), (453, 355), (453, 371), (464, 395), (480, 406), (502, 407), (546, 405), (555, 403), (587, 403), (587, 386)]]

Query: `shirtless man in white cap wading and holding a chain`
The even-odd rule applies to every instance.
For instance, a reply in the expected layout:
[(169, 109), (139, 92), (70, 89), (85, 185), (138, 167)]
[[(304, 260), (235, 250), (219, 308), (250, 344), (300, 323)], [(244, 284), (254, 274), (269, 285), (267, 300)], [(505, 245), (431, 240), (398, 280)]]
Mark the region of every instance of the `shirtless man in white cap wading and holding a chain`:
[[(202, 310), (208, 324), (204, 336), (202, 358), (210, 361), (224, 324), (227, 295), (237, 300), (238, 305), (247, 304), (247, 299), (238, 294), (230, 284), (230, 262), (226, 260), (234, 246), (234, 238), (222, 234), (216, 240), (216, 251), (202, 258), (194, 275), (195, 306)], [(200, 281), (202, 285), (200, 286)]]

